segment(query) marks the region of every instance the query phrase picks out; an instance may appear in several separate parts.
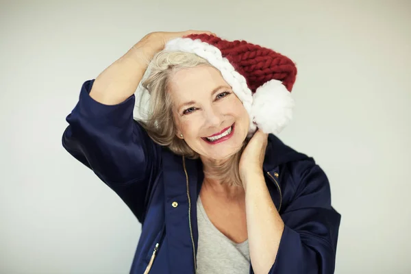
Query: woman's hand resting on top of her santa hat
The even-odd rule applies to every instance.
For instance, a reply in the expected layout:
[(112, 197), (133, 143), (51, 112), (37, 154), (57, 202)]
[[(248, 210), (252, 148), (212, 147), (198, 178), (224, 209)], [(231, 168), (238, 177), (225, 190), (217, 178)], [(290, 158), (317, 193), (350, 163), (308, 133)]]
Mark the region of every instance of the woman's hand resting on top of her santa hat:
[(186, 30), (185, 32), (151, 32), (138, 41), (133, 48), (139, 50), (144, 49), (146, 52), (151, 51), (151, 53), (156, 53), (164, 49), (169, 40), (188, 36), (190, 34), (209, 34), (216, 36), (216, 34), (209, 31), (192, 29)]

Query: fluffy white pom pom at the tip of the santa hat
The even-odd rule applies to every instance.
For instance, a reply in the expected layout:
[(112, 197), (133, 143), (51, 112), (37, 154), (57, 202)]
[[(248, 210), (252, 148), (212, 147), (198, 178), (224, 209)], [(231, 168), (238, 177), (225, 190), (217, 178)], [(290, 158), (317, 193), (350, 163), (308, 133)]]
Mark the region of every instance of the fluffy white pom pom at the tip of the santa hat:
[(253, 95), (253, 122), (264, 133), (279, 134), (292, 120), (295, 102), (279, 80), (271, 80), (257, 88)]

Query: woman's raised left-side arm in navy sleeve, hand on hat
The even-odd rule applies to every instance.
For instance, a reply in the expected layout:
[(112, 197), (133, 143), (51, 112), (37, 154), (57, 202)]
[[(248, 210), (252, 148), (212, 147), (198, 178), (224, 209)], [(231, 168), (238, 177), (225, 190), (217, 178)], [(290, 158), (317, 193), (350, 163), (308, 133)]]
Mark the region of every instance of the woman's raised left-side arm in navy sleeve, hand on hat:
[(142, 223), (147, 195), (158, 179), (161, 148), (133, 119), (134, 92), (153, 55), (188, 32), (154, 32), (95, 80), (83, 84), (66, 121), (62, 145), (125, 201)]

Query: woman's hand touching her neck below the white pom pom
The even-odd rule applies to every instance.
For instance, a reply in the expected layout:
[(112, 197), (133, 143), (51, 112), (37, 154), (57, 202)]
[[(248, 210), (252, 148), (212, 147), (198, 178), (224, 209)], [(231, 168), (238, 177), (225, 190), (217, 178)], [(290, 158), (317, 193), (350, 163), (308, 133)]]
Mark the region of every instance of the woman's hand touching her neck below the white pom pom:
[(246, 184), (249, 175), (262, 174), (262, 163), (264, 162), (268, 136), (269, 134), (265, 134), (258, 129), (249, 140), (247, 147), (242, 151), (238, 168), (243, 186)]

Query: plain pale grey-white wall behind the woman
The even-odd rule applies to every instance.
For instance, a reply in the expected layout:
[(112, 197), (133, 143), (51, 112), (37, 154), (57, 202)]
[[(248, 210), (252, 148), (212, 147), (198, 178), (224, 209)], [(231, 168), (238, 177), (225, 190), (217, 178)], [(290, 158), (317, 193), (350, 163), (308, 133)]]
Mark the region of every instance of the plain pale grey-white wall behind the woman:
[(207, 29), (297, 62), (279, 136), (326, 171), (336, 273), (411, 273), (410, 1), (1, 1), (0, 273), (127, 273), (132, 212), (66, 153), (66, 115), (148, 32)]

